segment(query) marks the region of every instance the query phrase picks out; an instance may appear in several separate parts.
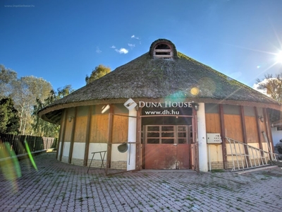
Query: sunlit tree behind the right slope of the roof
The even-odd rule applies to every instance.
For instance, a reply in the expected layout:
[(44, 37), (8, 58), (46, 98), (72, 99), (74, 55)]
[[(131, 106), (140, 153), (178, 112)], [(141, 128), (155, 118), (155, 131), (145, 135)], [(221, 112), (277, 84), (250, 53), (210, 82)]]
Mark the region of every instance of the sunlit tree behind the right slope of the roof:
[(266, 74), (264, 77), (262, 81), (257, 79), (257, 90), (263, 90), (269, 97), (282, 102), (282, 73), (276, 74), (276, 77), (272, 74)]

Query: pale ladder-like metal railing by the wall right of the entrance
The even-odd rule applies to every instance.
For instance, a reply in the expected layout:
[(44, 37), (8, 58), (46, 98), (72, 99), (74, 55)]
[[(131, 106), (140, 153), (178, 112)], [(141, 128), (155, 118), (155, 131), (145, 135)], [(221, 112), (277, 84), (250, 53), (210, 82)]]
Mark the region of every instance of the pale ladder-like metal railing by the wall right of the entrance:
[(264, 151), (228, 137), (226, 140), (231, 151), (227, 156), (232, 157), (233, 163), (231, 172), (269, 165), (269, 160), (276, 161), (276, 153)]

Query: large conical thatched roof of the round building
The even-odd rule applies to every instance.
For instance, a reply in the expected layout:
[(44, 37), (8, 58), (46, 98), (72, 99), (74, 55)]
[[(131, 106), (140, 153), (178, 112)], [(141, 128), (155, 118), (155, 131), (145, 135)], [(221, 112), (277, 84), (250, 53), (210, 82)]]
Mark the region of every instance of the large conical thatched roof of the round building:
[[(170, 45), (173, 57), (154, 58), (154, 47), (159, 42)], [(176, 52), (176, 47), (169, 40), (157, 40), (146, 54), (48, 105), (39, 112), (39, 116), (49, 122), (58, 122), (61, 110), (66, 107), (123, 103), (128, 98), (156, 101), (168, 97), (276, 110), (281, 107), (257, 90)]]

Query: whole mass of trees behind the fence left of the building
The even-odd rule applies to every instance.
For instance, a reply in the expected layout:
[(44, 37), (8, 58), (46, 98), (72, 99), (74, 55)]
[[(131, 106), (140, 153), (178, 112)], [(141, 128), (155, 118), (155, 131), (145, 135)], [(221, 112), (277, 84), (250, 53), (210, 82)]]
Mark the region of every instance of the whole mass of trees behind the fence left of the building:
[(0, 64), (0, 132), (58, 137), (59, 126), (37, 117), (37, 112), (74, 90), (70, 85), (53, 90), (51, 83), (35, 76), (17, 77)]

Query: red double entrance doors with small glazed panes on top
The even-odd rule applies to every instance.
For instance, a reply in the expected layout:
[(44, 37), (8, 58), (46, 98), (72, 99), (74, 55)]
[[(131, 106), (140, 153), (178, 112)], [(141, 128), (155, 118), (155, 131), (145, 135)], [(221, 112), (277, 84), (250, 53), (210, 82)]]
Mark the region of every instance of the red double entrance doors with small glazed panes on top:
[(146, 125), (145, 169), (189, 169), (190, 127)]

